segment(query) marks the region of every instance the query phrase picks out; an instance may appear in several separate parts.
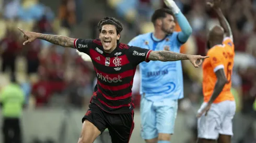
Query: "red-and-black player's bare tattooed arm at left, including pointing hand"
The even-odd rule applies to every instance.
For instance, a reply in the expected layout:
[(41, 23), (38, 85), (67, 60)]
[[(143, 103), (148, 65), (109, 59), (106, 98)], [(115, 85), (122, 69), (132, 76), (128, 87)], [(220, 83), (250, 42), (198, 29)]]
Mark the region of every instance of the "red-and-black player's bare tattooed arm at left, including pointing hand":
[(41, 33), (36, 33), (36, 32), (28, 32), (28, 31), (24, 31), (20, 28), (18, 28), (23, 34), (24, 34), (24, 38), (25, 38), (25, 42), (23, 43), (23, 45), (29, 44), (31, 42), (33, 42), (34, 40), (36, 40), (37, 38), (41, 39), (41, 40), (45, 40), (48, 41), (52, 44), (55, 45), (60, 45), (63, 47), (74, 47), (74, 38), (69, 38), (66, 36), (61, 36), (61, 35), (48, 35), (48, 34), (41, 34)]

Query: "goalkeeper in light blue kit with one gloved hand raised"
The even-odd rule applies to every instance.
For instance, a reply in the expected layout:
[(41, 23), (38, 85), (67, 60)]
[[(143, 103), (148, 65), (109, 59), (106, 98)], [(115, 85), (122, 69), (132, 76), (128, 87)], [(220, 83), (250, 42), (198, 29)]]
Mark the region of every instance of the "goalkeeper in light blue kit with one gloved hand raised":
[[(188, 20), (172, 0), (169, 9), (157, 9), (153, 16), (155, 31), (138, 35), (128, 44), (151, 50), (170, 50), (180, 53), (180, 46), (192, 33)], [(181, 32), (174, 32), (178, 21)], [(135, 52), (135, 51), (134, 51)], [(140, 56), (141, 53), (133, 53)], [(141, 136), (148, 143), (168, 143), (173, 134), (178, 99), (183, 98), (181, 61), (150, 61), (139, 64), (141, 71)]]

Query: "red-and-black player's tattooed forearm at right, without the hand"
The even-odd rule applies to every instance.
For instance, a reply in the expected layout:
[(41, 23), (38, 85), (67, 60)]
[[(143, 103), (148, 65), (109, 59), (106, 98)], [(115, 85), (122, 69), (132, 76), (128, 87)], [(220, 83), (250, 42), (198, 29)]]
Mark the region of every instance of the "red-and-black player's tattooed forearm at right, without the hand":
[(159, 61), (177, 61), (177, 60), (188, 60), (188, 55), (175, 53), (172, 51), (160, 50), (152, 51), (148, 57), (149, 60)]

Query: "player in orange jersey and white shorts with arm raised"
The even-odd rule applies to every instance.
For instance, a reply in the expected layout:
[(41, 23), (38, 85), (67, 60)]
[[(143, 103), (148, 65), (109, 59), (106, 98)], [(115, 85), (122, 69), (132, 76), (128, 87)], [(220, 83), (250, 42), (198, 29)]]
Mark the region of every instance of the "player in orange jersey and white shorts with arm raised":
[[(203, 63), (204, 102), (197, 114), (197, 143), (230, 143), (236, 111), (230, 92), (234, 65), (234, 43), (230, 26), (220, 9), (220, 0), (207, 3), (218, 16), (220, 26), (208, 33), (207, 56)], [(226, 34), (226, 37), (224, 35)], [(205, 114), (204, 114), (205, 113)]]

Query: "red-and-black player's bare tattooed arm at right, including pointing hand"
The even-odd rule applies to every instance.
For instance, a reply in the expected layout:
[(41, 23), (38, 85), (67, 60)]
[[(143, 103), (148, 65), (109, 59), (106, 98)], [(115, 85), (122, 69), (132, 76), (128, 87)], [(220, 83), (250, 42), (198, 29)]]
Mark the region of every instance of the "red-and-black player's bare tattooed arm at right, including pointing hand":
[[(208, 56), (200, 56), (200, 55), (185, 55), (180, 53), (175, 53), (173, 51), (160, 50), (160, 51), (152, 51), (149, 54), (148, 60), (159, 60), (159, 61), (177, 61), (177, 60), (190, 60), (190, 62), (194, 65), (194, 67), (199, 67), (202, 63), (202, 59), (208, 58)], [(199, 63), (196, 64), (196, 61), (200, 60)]]

